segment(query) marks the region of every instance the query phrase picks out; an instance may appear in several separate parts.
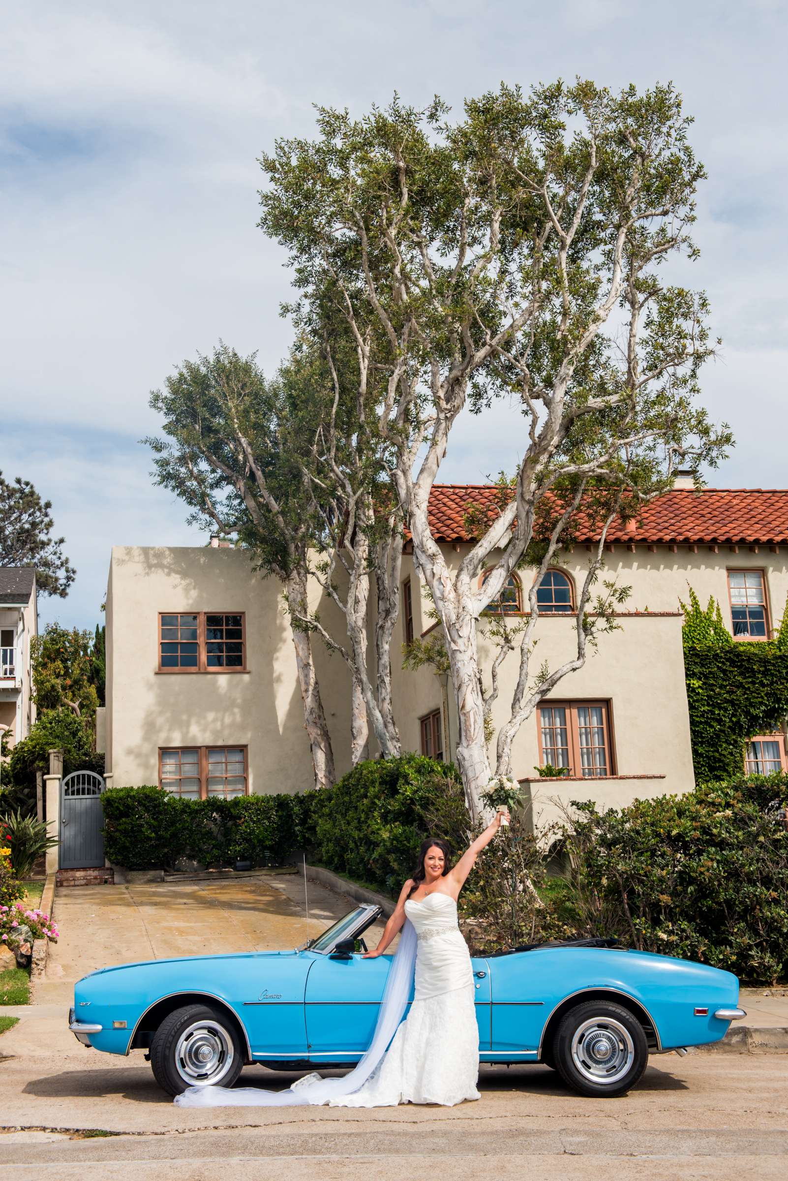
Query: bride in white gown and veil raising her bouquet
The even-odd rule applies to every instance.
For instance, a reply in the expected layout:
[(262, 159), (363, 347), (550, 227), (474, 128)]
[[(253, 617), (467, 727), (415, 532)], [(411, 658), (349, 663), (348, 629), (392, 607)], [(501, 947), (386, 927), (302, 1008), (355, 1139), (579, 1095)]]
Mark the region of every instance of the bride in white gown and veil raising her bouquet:
[[(190, 1087), (180, 1107), (394, 1107), (478, 1100), (479, 1030), (471, 955), (460, 933), (457, 900), (477, 856), (490, 844), (506, 811), (449, 868), (445, 841), (427, 839), (382, 938), (365, 959), (382, 955), (399, 931), (372, 1044), (343, 1078), (307, 1075), (284, 1091), (256, 1087)], [(402, 1020), (412, 986), (413, 1004)]]

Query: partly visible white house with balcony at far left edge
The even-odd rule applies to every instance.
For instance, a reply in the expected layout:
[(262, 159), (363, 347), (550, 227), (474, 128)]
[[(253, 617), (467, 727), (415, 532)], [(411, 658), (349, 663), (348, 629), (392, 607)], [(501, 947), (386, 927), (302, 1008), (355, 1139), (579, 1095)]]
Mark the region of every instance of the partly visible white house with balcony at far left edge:
[(35, 569), (0, 567), (0, 726), (12, 746), (35, 720), (31, 640), (37, 634)]

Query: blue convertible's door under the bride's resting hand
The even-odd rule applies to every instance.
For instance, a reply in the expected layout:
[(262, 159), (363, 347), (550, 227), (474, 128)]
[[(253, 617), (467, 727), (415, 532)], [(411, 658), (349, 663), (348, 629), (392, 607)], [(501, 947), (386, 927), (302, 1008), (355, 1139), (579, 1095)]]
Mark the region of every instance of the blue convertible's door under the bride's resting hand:
[(307, 1043), (316, 1061), (354, 1062), (377, 1022), (390, 955), (366, 960), (315, 955), (307, 977)]

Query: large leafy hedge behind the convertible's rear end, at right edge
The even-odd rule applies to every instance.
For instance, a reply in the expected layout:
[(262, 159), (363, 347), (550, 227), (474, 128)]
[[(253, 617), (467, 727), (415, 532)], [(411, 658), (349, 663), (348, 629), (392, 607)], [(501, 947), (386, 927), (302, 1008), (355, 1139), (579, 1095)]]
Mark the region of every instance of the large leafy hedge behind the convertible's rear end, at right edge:
[(564, 830), (584, 933), (701, 960), (749, 984), (788, 971), (788, 777), (738, 776), (597, 811)]

